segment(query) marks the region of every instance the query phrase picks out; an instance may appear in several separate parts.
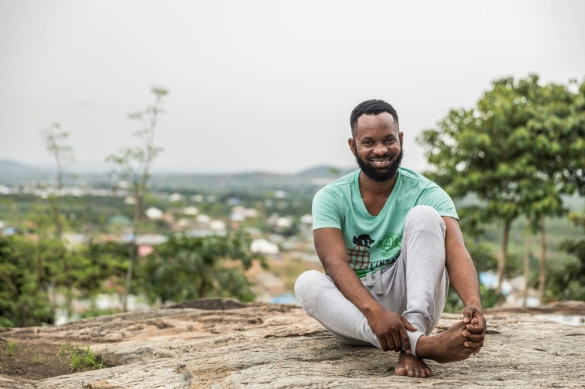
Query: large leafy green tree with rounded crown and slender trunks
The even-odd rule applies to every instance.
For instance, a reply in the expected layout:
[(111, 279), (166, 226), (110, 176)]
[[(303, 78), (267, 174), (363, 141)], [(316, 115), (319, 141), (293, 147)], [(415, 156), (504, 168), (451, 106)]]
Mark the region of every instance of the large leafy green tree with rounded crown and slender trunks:
[[(535, 75), (496, 80), (476, 107), (451, 111), (438, 129), (424, 131), (418, 139), (427, 147), (435, 168), (429, 175), (438, 184), (453, 197), (476, 194), (483, 205), (482, 212), (474, 212), (480, 222), (502, 222), (498, 290), (512, 221), (524, 215), (540, 229), (544, 274), (544, 216), (564, 212), (562, 194), (574, 192), (573, 181), (583, 176), (575, 166), (585, 153), (583, 120), (575, 120), (575, 93), (538, 81)], [(575, 159), (579, 151), (580, 159)]]

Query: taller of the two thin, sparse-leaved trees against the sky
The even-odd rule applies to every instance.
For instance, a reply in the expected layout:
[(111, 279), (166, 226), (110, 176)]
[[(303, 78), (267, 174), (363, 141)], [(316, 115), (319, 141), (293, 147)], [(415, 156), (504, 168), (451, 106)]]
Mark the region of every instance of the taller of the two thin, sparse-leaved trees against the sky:
[(144, 212), (144, 203), (150, 179), (150, 168), (153, 160), (162, 148), (154, 147), (154, 135), (158, 124), (158, 115), (163, 113), (162, 100), (169, 91), (162, 87), (152, 87), (151, 93), (155, 96), (154, 103), (144, 111), (130, 113), (130, 120), (139, 124), (134, 133), (140, 144), (131, 148), (123, 148), (118, 154), (109, 155), (106, 161), (116, 168), (118, 177), (129, 181), (132, 196), (134, 197), (134, 219), (132, 223), (132, 240), (129, 254), (129, 265), (126, 273), (125, 291), (123, 293), (123, 310), (127, 311), (128, 293), (132, 282), (132, 273), (136, 261), (136, 235), (140, 220)]

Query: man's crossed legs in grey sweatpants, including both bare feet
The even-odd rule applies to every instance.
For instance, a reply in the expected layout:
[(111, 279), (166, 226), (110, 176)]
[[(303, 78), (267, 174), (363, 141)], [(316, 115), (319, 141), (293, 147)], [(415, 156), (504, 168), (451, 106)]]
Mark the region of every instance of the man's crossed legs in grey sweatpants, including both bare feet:
[[(443, 219), (433, 208), (415, 207), (407, 216), (401, 255), (390, 269), (376, 272), (375, 276), (382, 278), (382, 296), (362, 279), (364, 287), (385, 309), (403, 315), (418, 330), (408, 332), (413, 353), (400, 353), (395, 366), (397, 375), (432, 375), (422, 358), (452, 362), (469, 356), (460, 352), (465, 348), (462, 322), (445, 333), (427, 336), (440, 319), (447, 296), (444, 242)], [(307, 271), (297, 279), (295, 294), (308, 315), (343, 342), (381, 348), (363, 313), (343, 296), (330, 277)], [(457, 352), (447, 353), (452, 349)]]

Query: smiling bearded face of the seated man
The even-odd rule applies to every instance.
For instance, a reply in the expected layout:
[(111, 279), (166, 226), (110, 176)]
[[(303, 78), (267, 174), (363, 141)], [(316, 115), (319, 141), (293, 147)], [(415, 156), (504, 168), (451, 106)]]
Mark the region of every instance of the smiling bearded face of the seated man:
[(377, 182), (393, 179), (403, 157), (403, 133), (387, 112), (361, 115), (349, 144), (363, 173)]

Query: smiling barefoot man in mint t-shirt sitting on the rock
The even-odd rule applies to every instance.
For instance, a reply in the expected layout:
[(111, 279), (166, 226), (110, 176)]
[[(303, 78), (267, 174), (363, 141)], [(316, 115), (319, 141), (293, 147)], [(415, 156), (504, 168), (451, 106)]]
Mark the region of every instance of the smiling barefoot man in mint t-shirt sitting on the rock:
[[(399, 352), (396, 375), (429, 377), (423, 359), (459, 361), (483, 345), (477, 272), (447, 193), (399, 168), (404, 135), (394, 108), (362, 102), (350, 124), (360, 169), (315, 195), (315, 249), (325, 274), (301, 274), (295, 294), (343, 342)], [(429, 336), (449, 282), (465, 304), (463, 320)]]

